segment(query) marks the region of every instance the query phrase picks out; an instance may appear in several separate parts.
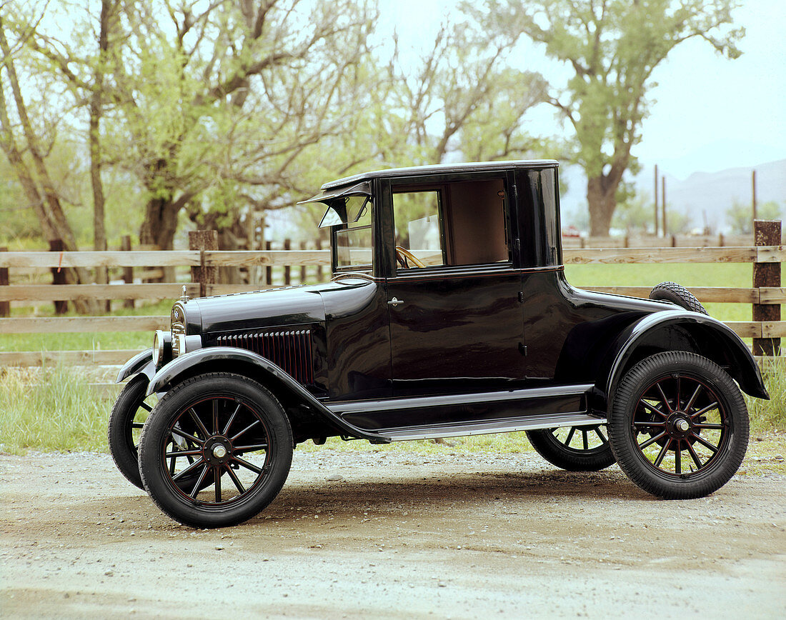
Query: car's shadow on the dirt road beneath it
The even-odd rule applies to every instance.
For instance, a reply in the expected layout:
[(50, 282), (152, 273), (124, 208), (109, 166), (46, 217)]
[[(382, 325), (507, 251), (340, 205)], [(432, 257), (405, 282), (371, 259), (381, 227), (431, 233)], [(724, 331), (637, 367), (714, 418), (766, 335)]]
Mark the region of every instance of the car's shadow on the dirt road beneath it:
[[(332, 523), (359, 523), (365, 517), (401, 517), (417, 519), (428, 515), (439, 518), (448, 510), (526, 510), (536, 501), (538, 506), (556, 504), (564, 499), (582, 502), (657, 501), (626, 479), (619, 469), (571, 472), (543, 468), (538, 471), (478, 471), (446, 473), (435, 471), (431, 476), (395, 475), (384, 479), (385, 471), (369, 479), (365, 470), (358, 480), (331, 481), (325, 472), (313, 479), (303, 475), (292, 477), (281, 493), (249, 525), (290, 523), (309, 514), (330, 517)], [(424, 475), (424, 473), (426, 475)], [(347, 476), (353, 476), (351, 469)], [(139, 493), (109, 496), (96, 500), (97, 512), (126, 515), (127, 519), (149, 519), (159, 509), (149, 497)], [(167, 517), (160, 515), (168, 521)], [(168, 524), (174, 525), (169, 521)]]

